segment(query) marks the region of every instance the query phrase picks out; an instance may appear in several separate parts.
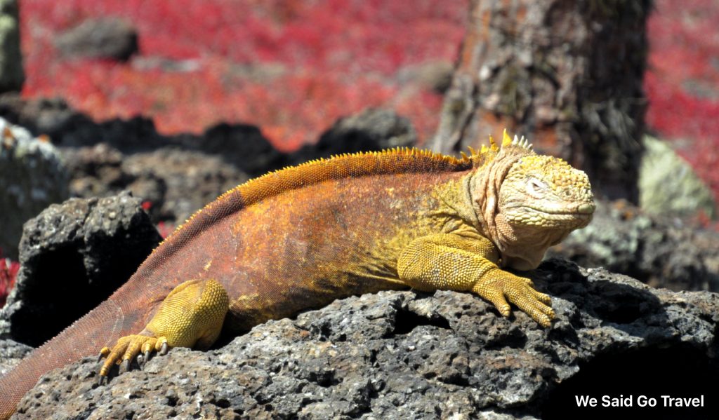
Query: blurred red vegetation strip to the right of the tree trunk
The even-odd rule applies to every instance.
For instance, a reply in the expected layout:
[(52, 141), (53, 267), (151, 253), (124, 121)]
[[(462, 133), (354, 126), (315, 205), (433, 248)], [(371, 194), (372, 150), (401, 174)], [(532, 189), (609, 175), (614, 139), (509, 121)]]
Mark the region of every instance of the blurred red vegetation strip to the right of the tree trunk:
[(656, 0), (649, 19), (647, 123), (679, 153), (719, 200), (719, 4)]

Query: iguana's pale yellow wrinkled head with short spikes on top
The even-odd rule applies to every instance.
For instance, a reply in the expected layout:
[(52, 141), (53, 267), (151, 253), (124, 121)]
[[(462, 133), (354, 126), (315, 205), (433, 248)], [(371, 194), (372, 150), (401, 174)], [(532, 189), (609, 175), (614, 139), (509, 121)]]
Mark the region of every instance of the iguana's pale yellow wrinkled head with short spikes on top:
[(595, 210), (587, 174), (564, 160), (536, 154), (506, 131), (499, 148), (477, 154), (472, 197), (480, 224), (502, 253), (503, 266), (534, 269), (547, 248), (583, 228)]

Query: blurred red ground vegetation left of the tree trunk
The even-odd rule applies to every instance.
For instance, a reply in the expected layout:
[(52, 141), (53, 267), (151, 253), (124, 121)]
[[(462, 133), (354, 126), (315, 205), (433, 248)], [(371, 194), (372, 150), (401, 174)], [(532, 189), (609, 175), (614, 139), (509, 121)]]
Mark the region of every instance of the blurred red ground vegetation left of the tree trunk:
[[(23, 93), (100, 120), (152, 116), (165, 133), (254, 123), (282, 149), (368, 106), (395, 108), (427, 136), (441, 97), (399, 72), (454, 60), (466, 10), (467, 0), (24, 0)], [(139, 57), (58, 55), (58, 33), (108, 15), (137, 27)]]

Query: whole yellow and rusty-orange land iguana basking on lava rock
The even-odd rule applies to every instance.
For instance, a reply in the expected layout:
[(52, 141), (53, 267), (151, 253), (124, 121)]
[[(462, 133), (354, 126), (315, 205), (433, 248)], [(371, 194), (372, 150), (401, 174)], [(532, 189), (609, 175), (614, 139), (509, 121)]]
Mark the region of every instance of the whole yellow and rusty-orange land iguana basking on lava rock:
[(549, 327), (550, 297), (504, 269), (535, 269), (594, 210), (584, 172), (506, 131), (501, 147), (490, 136), (461, 158), (393, 149), (270, 172), (198, 211), (109, 299), (0, 378), (0, 418), (40, 375), (84, 356), (106, 357), (102, 382), (138, 355), (206, 348), (223, 328), (385, 289), (471, 291)]

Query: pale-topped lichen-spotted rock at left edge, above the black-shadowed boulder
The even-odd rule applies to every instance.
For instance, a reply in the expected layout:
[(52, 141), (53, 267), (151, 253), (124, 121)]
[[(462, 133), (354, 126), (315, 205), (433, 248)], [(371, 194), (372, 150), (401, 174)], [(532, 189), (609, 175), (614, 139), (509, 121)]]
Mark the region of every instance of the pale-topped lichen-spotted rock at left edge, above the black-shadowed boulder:
[(68, 198), (68, 173), (55, 146), (0, 118), (0, 248), (17, 259), (22, 224)]

